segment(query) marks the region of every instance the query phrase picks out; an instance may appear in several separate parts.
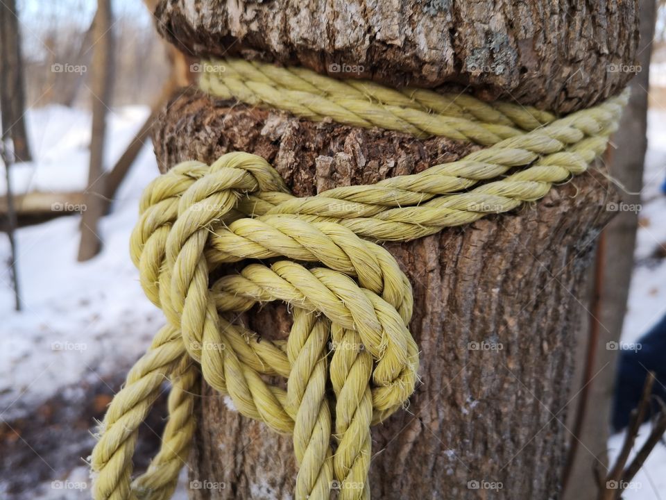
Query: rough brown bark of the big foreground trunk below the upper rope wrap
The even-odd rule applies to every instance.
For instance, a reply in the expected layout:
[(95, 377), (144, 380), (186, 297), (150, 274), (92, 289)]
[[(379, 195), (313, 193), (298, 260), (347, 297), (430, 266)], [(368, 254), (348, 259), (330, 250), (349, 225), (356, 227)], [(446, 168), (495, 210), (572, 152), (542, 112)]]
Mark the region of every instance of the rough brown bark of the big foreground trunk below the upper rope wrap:
[[(227, 151), (259, 154), (299, 195), (418, 172), (471, 149), (441, 138), (313, 124), (192, 92), (158, 119), (154, 142), (162, 171)], [(373, 428), (373, 498), (558, 496), (582, 310), (577, 297), (609, 217), (607, 190), (606, 179), (592, 172), (515, 213), (386, 245), (414, 288), (410, 328), (421, 350), (422, 383), (409, 408)], [(277, 304), (242, 320), (267, 337), (284, 338), (290, 326)], [(473, 349), (482, 342), (494, 349)], [(202, 396), (190, 479), (216, 487), (191, 496), (291, 498), (291, 437), (241, 417), (209, 387)], [(475, 490), (474, 481), (486, 488)], [(502, 487), (488, 489), (490, 483)]]

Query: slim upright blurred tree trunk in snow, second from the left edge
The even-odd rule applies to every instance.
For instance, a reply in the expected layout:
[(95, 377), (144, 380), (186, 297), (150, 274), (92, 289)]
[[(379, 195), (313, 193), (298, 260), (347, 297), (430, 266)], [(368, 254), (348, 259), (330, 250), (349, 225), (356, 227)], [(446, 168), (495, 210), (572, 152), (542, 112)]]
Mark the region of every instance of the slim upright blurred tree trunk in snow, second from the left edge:
[(113, 80), (113, 25), (111, 0), (99, 0), (94, 19), (95, 45), (92, 74), (92, 138), (88, 185), (85, 190), (85, 210), (81, 215), (81, 242), (78, 260), (96, 256), (101, 249), (97, 223), (104, 215), (107, 203), (104, 199), (106, 174), (104, 171), (104, 140), (106, 113), (111, 103)]

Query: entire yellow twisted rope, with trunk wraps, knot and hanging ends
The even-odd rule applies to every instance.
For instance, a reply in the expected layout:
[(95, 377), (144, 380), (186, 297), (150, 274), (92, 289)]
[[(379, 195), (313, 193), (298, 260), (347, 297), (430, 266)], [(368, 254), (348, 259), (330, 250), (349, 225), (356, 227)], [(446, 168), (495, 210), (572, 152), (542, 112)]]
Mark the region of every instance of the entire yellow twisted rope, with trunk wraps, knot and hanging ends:
[[(293, 434), (296, 499), (328, 499), (332, 490), (343, 500), (369, 499), (370, 426), (406, 404), (419, 363), (408, 329), (411, 285), (374, 241), (422, 238), (542, 198), (606, 149), (628, 93), (557, 118), (300, 68), (233, 59), (200, 67), (200, 87), (223, 99), (486, 148), (419, 174), (315, 197), (294, 197), (266, 160), (240, 152), (210, 166), (180, 163), (148, 185), (131, 255), (167, 326), (101, 423), (92, 453), (94, 499), (171, 496), (194, 435), (199, 371), (243, 415)], [(276, 260), (209, 283), (222, 264), (268, 258)], [(230, 320), (276, 300), (293, 310), (287, 341)], [(285, 379), (286, 389), (266, 376)], [(167, 379), (162, 448), (132, 480), (137, 429)]]

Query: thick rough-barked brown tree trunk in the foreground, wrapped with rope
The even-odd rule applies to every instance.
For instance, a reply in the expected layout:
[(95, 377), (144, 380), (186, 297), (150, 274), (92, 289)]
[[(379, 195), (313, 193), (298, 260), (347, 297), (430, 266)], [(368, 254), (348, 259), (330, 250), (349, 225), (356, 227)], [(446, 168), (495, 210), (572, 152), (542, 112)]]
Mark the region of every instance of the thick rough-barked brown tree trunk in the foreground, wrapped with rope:
[[(319, 3), (299, 11), (295, 1), (162, 0), (156, 15), (167, 38), (198, 56), (230, 49), (320, 72), (333, 63), (364, 65), (368, 72), (359, 76), (384, 83), (461, 90), (470, 84), (468, 92), (481, 96), (514, 96), (558, 111), (589, 106), (631, 76), (607, 74), (606, 63), (633, 60), (636, 2), (602, 2), (593, 12), (587, 3), (540, 0), (520, 7), (408, 1), (374, 10), (361, 0), (334, 8)], [(486, 71), (497, 69), (501, 54), (510, 55), (505, 71)], [(481, 71), (472, 71), (479, 60)], [(197, 92), (174, 99), (154, 133), (163, 172), (182, 160), (210, 163), (247, 151), (270, 161), (299, 196), (420, 172), (477, 148), (315, 124)], [(558, 497), (575, 331), (584, 311), (579, 294), (595, 238), (611, 215), (609, 188), (603, 175), (590, 172), (514, 213), (386, 244), (413, 285), (410, 330), (421, 351), (422, 383), (409, 408), (373, 428), (373, 498)], [(291, 324), (287, 307), (273, 303), (239, 320), (266, 338), (284, 338)], [(192, 490), (193, 498), (291, 498), (290, 436), (242, 417), (210, 387), (197, 411), (190, 479), (204, 487)]]

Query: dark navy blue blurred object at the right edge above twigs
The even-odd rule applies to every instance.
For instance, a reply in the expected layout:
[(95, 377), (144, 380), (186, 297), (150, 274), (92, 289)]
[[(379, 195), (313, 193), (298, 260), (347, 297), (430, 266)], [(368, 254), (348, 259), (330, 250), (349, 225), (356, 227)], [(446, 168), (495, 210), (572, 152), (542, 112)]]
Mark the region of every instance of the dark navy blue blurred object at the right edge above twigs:
[(616, 432), (629, 425), (629, 415), (640, 402), (648, 371), (654, 372), (656, 380), (652, 387), (652, 413), (647, 412), (645, 419), (660, 408), (654, 396), (666, 402), (666, 315), (629, 347), (632, 349), (621, 349), (617, 366), (611, 422)]

